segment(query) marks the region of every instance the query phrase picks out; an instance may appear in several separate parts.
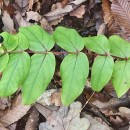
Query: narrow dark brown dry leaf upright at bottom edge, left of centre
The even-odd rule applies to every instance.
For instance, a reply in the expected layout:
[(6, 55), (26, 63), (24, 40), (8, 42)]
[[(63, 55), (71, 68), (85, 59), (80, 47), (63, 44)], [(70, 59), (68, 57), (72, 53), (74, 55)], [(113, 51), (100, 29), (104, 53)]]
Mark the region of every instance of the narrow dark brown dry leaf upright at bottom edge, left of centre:
[(35, 107), (32, 108), (31, 114), (29, 115), (28, 121), (26, 122), (25, 130), (36, 130), (37, 123), (39, 120), (39, 112)]

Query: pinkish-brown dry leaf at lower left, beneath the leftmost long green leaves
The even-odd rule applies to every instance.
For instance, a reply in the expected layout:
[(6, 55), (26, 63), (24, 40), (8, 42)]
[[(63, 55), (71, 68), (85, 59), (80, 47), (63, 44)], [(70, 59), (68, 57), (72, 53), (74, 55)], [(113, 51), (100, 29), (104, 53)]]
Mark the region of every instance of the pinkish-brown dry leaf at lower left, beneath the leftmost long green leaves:
[(21, 95), (18, 95), (16, 99), (13, 100), (12, 107), (5, 111), (3, 117), (0, 118), (0, 121), (4, 123), (5, 126), (9, 126), (23, 117), (30, 107), (30, 105), (23, 105), (22, 97)]

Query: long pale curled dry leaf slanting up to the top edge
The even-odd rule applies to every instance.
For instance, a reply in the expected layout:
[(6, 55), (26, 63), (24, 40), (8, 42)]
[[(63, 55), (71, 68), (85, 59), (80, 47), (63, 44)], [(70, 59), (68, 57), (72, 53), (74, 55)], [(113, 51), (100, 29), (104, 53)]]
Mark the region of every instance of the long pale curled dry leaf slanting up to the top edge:
[(48, 21), (56, 20), (57, 18), (63, 17), (67, 13), (73, 11), (74, 9), (76, 9), (80, 4), (82, 4), (85, 1), (86, 0), (71, 1), (64, 8), (60, 6), (59, 8), (52, 10), (51, 12), (45, 14), (44, 16), (47, 18)]

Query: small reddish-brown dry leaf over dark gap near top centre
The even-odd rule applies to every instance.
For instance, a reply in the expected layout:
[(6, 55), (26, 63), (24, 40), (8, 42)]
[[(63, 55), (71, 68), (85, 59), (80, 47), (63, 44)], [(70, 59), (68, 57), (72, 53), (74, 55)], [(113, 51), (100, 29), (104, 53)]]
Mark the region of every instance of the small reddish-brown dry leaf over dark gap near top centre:
[(70, 13), (70, 16), (76, 16), (77, 18), (83, 18), (84, 13), (85, 13), (85, 5), (81, 5), (76, 10), (72, 11)]

